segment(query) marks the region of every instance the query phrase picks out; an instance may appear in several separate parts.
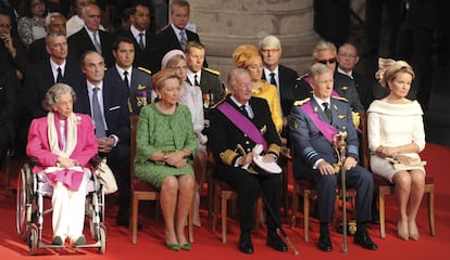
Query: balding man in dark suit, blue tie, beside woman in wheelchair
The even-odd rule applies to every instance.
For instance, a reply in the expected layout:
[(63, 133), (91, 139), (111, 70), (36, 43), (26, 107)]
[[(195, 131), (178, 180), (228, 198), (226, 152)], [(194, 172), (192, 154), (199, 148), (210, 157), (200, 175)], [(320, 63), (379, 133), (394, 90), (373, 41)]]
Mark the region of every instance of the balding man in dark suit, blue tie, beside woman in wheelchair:
[(104, 60), (96, 51), (82, 56), (86, 81), (74, 88), (74, 112), (91, 116), (99, 141), (99, 155), (108, 159), (118, 184), (116, 224), (128, 226), (130, 205), (129, 113), (127, 91), (104, 78)]

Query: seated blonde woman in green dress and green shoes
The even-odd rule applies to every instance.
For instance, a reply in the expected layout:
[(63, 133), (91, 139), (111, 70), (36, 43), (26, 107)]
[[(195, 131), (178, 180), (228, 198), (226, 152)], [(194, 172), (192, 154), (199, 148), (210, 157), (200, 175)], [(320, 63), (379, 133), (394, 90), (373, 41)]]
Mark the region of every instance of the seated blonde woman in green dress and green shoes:
[(182, 83), (174, 69), (152, 77), (159, 99), (141, 109), (136, 135), (135, 174), (160, 188), (165, 243), (172, 250), (191, 248), (185, 225), (196, 183), (190, 162), (197, 139), (188, 107), (178, 104)]

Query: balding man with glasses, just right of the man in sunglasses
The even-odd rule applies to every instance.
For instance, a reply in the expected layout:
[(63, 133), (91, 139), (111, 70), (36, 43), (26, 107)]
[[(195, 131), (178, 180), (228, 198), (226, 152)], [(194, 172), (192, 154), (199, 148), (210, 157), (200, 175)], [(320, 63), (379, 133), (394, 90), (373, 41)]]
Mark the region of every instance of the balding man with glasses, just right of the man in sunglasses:
[[(343, 43), (339, 47), (337, 62), (338, 62), (338, 74), (348, 76), (354, 82), (354, 87), (360, 94), (360, 101), (367, 109), (374, 98), (373, 86), (365, 75), (354, 70), (360, 56), (358, 55), (358, 49), (352, 43)], [(375, 86), (374, 86), (375, 87)]]

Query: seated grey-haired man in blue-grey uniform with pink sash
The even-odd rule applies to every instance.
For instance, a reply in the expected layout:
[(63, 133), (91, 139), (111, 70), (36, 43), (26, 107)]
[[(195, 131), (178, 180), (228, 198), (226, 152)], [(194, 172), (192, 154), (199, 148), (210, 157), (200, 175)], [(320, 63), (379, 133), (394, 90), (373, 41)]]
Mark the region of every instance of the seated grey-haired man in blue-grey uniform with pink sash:
[[(293, 177), (311, 181), (317, 193), (317, 213), (321, 223), (318, 248), (332, 250), (329, 221), (336, 200), (336, 186), (340, 183), (341, 171), (346, 170), (346, 183), (357, 190), (357, 233), (354, 243), (365, 249), (375, 250), (375, 245), (365, 227), (371, 220), (374, 182), (372, 173), (358, 165), (359, 143), (353, 127), (351, 109), (342, 98), (332, 96), (333, 70), (323, 64), (314, 64), (310, 70), (313, 95), (295, 103), (290, 115), (289, 132), (293, 151)], [(342, 133), (347, 144), (347, 157), (334, 144)], [(339, 165), (339, 162), (342, 162)]]

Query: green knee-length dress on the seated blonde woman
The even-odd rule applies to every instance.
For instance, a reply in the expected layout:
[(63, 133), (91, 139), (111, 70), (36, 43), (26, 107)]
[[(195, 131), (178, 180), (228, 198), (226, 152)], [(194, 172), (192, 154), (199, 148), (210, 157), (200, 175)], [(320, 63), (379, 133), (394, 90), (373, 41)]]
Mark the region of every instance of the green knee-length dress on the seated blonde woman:
[(161, 113), (154, 103), (140, 110), (136, 133), (135, 176), (155, 187), (161, 187), (168, 176), (192, 174), (192, 167), (188, 164), (183, 168), (175, 168), (149, 160), (150, 155), (158, 151), (179, 151), (188, 148), (192, 152), (191, 160), (197, 150), (197, 139), (193, 134), (190, 112), (187, 106), (178, 105), (175, 113)]

